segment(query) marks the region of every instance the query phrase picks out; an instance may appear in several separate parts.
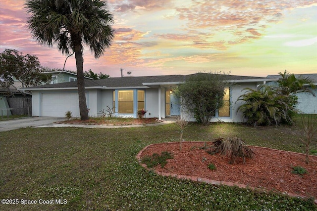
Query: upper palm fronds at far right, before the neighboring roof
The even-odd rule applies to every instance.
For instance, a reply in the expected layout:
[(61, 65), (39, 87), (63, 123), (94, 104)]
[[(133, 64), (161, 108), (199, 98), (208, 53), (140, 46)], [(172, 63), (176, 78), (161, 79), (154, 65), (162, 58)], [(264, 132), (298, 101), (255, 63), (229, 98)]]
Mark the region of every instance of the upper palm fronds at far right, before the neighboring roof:
[(282, 94), (290, 95), (300, 92), (308, 92), (313, 94), (314, 97), (316, 97), (312, 89), (305, 85), (309, 84), (312, 88), (315, 88), (314, 83), (316, 82), (314, 80), (304, 76), (299, 76), (296, 78), (294, 74), (290, 74), (286, 70), (284, 71), (284, 73), (279, 72), (278, 75), (281, 76), (277, 83), (280, 87), (279, 90)]

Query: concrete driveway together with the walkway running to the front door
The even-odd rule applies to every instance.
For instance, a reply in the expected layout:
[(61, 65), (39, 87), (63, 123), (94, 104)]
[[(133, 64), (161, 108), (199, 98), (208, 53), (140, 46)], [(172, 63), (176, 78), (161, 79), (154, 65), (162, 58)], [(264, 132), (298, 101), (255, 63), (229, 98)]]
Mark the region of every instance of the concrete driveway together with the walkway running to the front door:
[(162, 122), (146, 125), (124, 125), (124, 126), (106, 126), (106, 125), (83, 125), (83, 124), (57, 124), (55, 122), (64, 121), (65, 118), (57, 117), (30, 117), (23, 119), (14, 119), (0, 121), (0, 132), (13, 130), (23, 127), (84, 127), (84, 128), (122, 128), (122, 127), (151, 127), (165, 125), (175, 122), (173, 118), (162, 119)]

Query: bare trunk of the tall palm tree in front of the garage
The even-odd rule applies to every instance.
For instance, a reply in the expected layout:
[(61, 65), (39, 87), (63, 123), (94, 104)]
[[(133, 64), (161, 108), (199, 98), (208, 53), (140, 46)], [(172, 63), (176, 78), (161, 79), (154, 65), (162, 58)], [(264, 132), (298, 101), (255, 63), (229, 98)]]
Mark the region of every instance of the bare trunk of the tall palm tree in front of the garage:
[(88, 109), (86, 104), (83, 53), (82, 53), (81, 45), (74, 46), (74, 51), (75, 51), (76, 69), (77, 69), (77, 87), (78, 87), (80, 119), (88, 120), (89, 117), (88, 117)]

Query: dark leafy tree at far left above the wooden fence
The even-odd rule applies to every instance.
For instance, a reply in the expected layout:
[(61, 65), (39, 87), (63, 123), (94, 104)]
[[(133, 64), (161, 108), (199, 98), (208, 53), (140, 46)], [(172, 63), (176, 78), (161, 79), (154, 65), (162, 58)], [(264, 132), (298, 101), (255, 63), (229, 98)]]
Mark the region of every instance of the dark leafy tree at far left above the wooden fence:
[[(21, 87), (29, 87), (40, 84), (49, 84), (51, 75), (41, 74), (42, 67), (36, 56), (24, 55), (14, 49), (5, 49), (0, 54), (0, 87), (13, 95), (12, 87), (15, 87), (14, 79), (21, 83)], [(25, 93), (20, 91), (25, 96)]]

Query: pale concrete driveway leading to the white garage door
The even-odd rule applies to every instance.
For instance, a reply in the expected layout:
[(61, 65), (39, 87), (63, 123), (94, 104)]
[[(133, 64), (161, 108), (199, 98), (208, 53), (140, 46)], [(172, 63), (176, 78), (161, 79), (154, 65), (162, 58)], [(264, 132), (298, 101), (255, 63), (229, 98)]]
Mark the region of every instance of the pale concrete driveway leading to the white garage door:
[(64, 120), (65, 118), (60, 117), (30, 117), (23, 119), (0, 121), (0, 132), (23, 127), (48, 126), (53, 125), (54, 122)]

